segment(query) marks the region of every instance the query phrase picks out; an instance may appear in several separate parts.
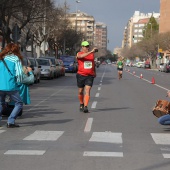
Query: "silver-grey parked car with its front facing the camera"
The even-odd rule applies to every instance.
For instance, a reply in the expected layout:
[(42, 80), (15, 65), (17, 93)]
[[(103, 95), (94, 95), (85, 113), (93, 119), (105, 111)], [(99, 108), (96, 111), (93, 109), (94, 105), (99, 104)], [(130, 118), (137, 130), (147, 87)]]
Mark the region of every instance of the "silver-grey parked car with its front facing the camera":
[(55, 67), (50, 59), (47, 58), (37, 58), (38, 64), (41, 66), (41, 78), (53, 79)]

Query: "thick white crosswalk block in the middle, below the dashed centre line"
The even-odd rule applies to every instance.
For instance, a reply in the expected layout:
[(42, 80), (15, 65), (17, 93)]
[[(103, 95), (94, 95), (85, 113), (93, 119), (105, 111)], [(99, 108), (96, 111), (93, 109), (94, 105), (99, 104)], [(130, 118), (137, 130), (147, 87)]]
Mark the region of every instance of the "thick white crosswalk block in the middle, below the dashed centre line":
[(93, 132), (91, 142), (122, 143), (122, 133)]

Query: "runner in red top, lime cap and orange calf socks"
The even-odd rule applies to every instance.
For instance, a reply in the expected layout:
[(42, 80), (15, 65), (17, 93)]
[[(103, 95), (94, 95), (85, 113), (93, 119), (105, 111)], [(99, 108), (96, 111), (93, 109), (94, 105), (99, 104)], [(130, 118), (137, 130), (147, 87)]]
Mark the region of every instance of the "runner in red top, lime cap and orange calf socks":
[(77, 53), (78, 71), (76, 74), (78, 86), (78, 98), (80, 101), (80, 111), (88, 113), (88, 103), (90, 100), (90, 90), (93, 80), (96, 77), (94, 53), (97, 48), (90, 50), (88, 41), (81, 43), (81, 51)]

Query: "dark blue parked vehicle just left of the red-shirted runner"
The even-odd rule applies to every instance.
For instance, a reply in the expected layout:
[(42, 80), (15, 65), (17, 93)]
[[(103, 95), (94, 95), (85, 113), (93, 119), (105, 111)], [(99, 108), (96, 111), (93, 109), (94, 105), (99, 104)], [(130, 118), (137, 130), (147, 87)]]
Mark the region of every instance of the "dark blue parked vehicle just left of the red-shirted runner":
[(64, 63), (65, 72), (77, 72), (77, 60), (75, 56), (60, 56), (60, 59)]

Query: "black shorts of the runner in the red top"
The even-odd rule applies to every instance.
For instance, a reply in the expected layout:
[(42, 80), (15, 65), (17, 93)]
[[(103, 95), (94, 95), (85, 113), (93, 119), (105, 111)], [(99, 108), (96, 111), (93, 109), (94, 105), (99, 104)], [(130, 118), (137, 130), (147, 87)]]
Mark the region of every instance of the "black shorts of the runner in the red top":
[(84, 86), (93, 86), (94, 76), (82, 76), (80, 74), (76, 74), (77, 78), (77, 86), (79, 88), (83, 88)]

